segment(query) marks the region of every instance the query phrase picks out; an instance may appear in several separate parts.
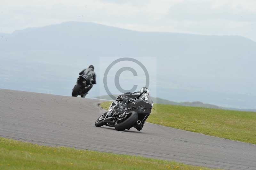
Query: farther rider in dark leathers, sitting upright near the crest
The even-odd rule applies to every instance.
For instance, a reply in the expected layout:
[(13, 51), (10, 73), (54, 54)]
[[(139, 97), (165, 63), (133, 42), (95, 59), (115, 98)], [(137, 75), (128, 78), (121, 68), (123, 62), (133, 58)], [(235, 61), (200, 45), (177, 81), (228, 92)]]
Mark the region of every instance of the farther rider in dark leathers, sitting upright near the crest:
[(88, 91), (92, 89), (92, 84), (96, 84), (96, 73), (94, 72), (94, 66), (90, 65), (88, 68), (82, 70), (79, 75), (83, 75), (86, 78), (87, 86), (85, 88), (87, 88)]

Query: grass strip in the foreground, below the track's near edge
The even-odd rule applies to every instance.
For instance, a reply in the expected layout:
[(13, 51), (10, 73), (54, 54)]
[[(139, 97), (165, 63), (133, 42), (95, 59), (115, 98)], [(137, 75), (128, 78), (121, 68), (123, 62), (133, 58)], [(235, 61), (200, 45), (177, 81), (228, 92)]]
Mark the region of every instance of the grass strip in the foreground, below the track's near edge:
[(177, 162), (98, 151), (49, 147), (0, 137), (0, 169), (195, 169)]

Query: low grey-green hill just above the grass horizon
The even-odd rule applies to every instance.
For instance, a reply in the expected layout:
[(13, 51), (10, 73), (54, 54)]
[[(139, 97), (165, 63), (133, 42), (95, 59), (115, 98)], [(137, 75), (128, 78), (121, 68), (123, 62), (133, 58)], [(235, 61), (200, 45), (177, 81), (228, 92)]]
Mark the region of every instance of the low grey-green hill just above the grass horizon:
[[(114, 95), (114, 96), (118, 96), (118, 95)], [(108, 95), (100, 96), (100, 97), (96, 97), (96, 98), (111, 100), (111, 98)], [(152, 97), (152, 99), (153, 99), (154, 103), (159, 103), (159, 104), (172, 104), (172, 105), (181, 105), (181, 106), (193, 106), (193, 107), (222, 109), (219, 106), (212, 105), (212, 104), (206, 104), (206, 103), (202, 103), (202, 102), (173, 102), (173, 101), (169, 101), (169, 100), (162, 99), (159, 97)]]

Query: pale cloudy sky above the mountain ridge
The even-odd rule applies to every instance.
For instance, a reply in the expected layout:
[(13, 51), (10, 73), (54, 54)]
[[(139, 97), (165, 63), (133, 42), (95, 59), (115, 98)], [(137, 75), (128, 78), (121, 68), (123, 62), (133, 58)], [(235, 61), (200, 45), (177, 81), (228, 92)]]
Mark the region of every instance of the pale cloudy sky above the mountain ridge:
[(0, 0), (0, 32), (65, 21), (256, 41), (256, 0)]

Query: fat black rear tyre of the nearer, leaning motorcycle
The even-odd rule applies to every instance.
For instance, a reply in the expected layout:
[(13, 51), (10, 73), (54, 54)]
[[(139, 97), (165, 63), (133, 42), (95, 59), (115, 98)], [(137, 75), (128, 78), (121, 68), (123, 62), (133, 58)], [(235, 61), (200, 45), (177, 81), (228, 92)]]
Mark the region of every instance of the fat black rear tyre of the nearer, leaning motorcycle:
[(124, 131), (127, 128), (132, 128), (136, 121), (138, 120), (138, 113), (131, 111), (132, 113), (129, 113), (125, 120), (117, 120), (115, 122), (115, 129), (118, 131)]

